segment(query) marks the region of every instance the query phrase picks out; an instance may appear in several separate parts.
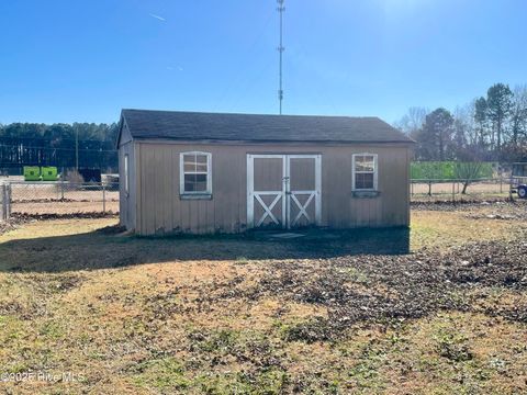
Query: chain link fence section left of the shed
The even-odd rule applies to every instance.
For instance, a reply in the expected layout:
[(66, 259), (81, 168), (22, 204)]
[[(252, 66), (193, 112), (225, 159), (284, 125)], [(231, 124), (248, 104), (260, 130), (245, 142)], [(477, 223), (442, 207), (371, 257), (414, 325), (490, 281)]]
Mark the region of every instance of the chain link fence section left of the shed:
[(119, 213), (119, 183), (25, 182), (0, 184), (0, 218), (10, 215), (90, 215)]

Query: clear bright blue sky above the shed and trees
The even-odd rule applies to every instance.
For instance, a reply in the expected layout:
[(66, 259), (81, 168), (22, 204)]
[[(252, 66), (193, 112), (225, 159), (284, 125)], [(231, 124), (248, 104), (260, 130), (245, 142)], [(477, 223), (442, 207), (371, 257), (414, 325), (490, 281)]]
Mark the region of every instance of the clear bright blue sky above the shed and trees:
[[(0, 4), (0, 123), (277, 113), (273, 0)], [(284, 113), (453, 109), (527, 82), (527, 1), (285, 0)]]

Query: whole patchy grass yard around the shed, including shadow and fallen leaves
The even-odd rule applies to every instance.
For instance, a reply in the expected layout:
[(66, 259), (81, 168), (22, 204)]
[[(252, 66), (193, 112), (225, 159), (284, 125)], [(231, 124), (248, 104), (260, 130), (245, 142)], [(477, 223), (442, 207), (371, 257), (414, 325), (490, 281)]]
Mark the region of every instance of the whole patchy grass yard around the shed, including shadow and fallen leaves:
[(412, 228), (138, 238), (114, 218), (0, 235), (4, 393), (527, 392), (527, 205)]

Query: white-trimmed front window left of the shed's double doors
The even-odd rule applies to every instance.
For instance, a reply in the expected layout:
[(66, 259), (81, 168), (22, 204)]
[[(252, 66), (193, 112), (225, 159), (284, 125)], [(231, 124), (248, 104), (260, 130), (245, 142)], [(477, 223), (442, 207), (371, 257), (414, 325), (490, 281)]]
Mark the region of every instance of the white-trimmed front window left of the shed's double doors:
[(211, 194), (211, 154), (180, 154), (180, 192), (181, 194)]

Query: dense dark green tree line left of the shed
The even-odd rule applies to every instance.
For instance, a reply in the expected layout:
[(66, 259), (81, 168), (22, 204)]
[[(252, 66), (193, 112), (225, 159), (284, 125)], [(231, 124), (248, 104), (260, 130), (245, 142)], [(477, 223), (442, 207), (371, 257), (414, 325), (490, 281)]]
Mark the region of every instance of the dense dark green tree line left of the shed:
[(117, 171), (117, 124), (0, 125), (0, 169), (20, 173), (23, 166), (55, 166), (60, 171), (97, 168)]

